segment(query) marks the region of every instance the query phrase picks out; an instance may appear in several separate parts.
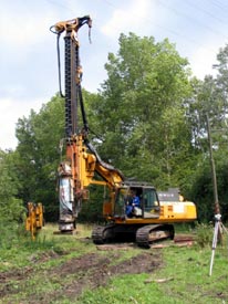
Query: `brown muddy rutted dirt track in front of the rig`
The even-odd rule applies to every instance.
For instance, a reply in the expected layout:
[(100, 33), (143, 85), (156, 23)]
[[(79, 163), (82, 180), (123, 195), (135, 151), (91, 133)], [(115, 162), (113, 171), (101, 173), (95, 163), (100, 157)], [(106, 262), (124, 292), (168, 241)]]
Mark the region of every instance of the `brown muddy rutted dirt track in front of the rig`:
[[(27, 290), (28, 280), (35, 275), (40, 275), (43, 282), (49, 284), (59, 284), (60, 287), (56, 290), (50, 289), (52, 292), (40, 293), (30, 292), (27, 295), (27, 300), (21, 301), (20, 304), (48, 304), (50, 302), (60, 301), (64, 295), (64, 298), (75, 300), (77, 298), (85, 289), (96, 289), (107, 284), (110, 277), (117, 274), (126, 273), (152, 273), (155, 269), (162, 264), (159, 252), (153, 252), (151, 250), (143, 251), (138, 255), (120, 262), (121, 250), (104, 249), (105, 254), (100, 254), (97, 250), (94, 253), (85, 254), (81, 258), (73, 258), (63, 262), (61, 265), (52, 268), (49, 271), (42, 270), (42, 266), (32, 268), (27, 266), (21, 270), (0, 273), (0, 303), (7, 302), (7, 297), (10, 294), (14, 294), (18, 291)], [(101, 250), (101, 248), (100, 248)], [(54, 252), (44, 253), (35, 261), (35, 264), (42, 265), (42, 262), (49, 259), (59, 259)], [(14, 282), (14, 284), (12, 284)], [(18, 285), (18, 289), (14, 285)], [(30, 287), (31, 289), (31, 287)], [(61, 302), (59, 302), (61, 303)]]

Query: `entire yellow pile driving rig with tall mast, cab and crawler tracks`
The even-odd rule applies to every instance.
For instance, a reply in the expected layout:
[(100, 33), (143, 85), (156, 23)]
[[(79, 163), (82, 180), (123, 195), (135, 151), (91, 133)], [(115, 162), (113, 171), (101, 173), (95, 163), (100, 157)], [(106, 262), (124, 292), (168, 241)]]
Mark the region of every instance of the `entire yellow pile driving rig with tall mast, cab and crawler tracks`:
[[(102, 244), (124, 238), (149, 248), (151, 242), (155, 240), (174, 238), (174, 223), (194, 221), (196, 207), (190, 201), (159, 202), (152, 185), (125, 180), (118, 169), (101, 159), (90, 143), (81, 87), (82, 65), (77, 38), (77, 32), (84, 24), (91, 29), (90, 15), (58, 22), (51, 27), (51, 31), (58, 35), (58, 41), (62, 33), (65, 34), (65, 159), (58, 170), (59, 229), (61, 232), (73, 231), (81, 206), (89, 199), (87, 187), (104, 185), (110, 190), (110, 198), (103, 203), (103, 216), (107, 224), (94, 228), (93, 242)], [(77, 126), (79, 108), (83, 122), (81, 129)], [(102, 180), (96, 176), (102, 177)], [(137, 202), (134, 202), (132, 196), (137, 197)]]

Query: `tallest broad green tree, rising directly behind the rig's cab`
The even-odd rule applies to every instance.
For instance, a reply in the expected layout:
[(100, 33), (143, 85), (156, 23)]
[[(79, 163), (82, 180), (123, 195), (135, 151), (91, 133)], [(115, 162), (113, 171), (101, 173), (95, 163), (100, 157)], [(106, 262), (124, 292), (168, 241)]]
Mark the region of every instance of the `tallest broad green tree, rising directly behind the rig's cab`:
[[(122, 34), (110, 54), (108, 78), (94, 105), (102, 122), (99, 150), (127, 177), (159, 189), (179, 186), (179, 160), (190, 156), (183, 101), (190, 95), (187, 61), (164, 40)], [(137, 165), (135, 165), (137, 164)], [(148, 169), (149, 168), (149, 169)]]

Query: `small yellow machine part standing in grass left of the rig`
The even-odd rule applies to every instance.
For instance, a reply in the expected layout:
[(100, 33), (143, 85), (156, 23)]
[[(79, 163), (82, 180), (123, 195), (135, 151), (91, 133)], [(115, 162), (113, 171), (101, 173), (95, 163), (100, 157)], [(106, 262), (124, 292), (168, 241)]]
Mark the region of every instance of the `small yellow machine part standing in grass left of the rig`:
[(28, 202), (28, 216), (25, 220), (25, 230), (31, 232), (34, 240), (38, 231), (43, 227), (43, 205), (41, 202)]

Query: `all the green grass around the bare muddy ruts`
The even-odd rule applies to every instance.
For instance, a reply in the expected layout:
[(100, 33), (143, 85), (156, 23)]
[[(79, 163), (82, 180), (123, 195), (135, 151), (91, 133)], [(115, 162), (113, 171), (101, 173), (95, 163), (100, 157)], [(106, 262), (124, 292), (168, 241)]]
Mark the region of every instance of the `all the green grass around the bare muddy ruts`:
[[(149, 252), (158, 252), (157, 255), (163, 260), (162, 266), (152, 273), (110, 276), (105, 286), (85, 289), (77, 300), (70, 298), (63, 293), (61, 297), (53, 297), (45, 302), (45, 297), (60, 290), (64, 291), (66, 283), (83, 279), (83, 273), (71, 273), (63, 277), (54, 272), (50, 275), (55, 268), (71, 259), (91, 253), (102, 258), (112, 258), (115, 254), (112, 264), (117, 264), (145, 251), (137, 248), (115, 252), (97, 251), (90, 240), (86, 241), (91, 235), (90, 226), (80, 226), (80, 232), (75, 235), (54, 235), (55, 230), (56, 227), (46, 226), (35, 241), (23, 237), (18, 243), (13, 243), (13, 247), (0, 249), (2, 277), (9, 273), (28, 272), (28, 277), (24, 276), (23, 280), (20, 276), (12, 276), (6, 282), (9, 292), (4, 296), (0, 294), (0, 303), (25, 304), (30, 303), (28, 298), (37, 298), (37, 303), (50, 304), (228, 303), (228, 235), (225, 234), (224, 247), (218, 245), (216, 249), (213, 275), (209, 276), (213, 230), (206, 227), (198, 227), (194, 231), (197, 239), (203, 240), (203, 247), (196, 244), (189, 248), (151, 249)], [(185, 231), (182, 229), (182, 232)], [(85, 239), (82, 241), (81, 238)], [(96, 277), (93, 279), (96, 280)], [(159, 280), (167, 281), (159, 283)]]

